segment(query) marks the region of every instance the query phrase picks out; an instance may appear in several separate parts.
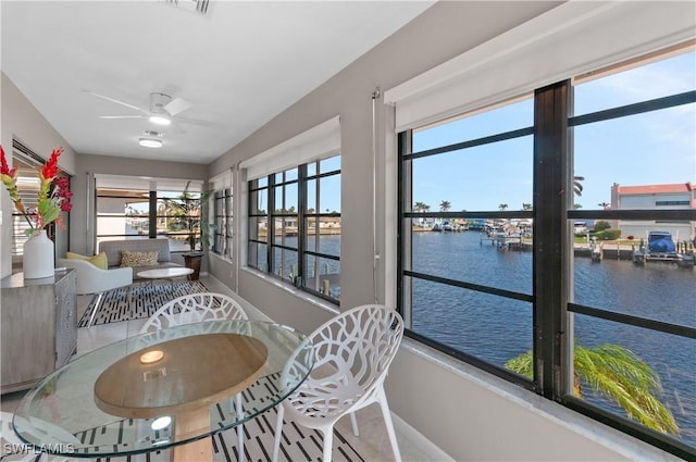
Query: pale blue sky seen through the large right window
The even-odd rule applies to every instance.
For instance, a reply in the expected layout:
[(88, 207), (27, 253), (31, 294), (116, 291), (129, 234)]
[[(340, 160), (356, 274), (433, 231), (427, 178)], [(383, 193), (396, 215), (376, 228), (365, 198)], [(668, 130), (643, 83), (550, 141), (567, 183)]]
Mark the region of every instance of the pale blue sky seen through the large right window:
[[(645, 101), (696, 88), (696, 52), (582, 83), (575, 114)], [(526, 99), (414, 134), (420, 151), (533, 124)], [(610, 202), (614, 183), (624, 186), (696, 183), (696, 104), (575, 128), (575, 175), (584, 176), (584, 210)], [(414, 161), (413, 201), (432, 211), (443, 200), (452, 211), (521, 210), (532, 202), (532, 137)]]

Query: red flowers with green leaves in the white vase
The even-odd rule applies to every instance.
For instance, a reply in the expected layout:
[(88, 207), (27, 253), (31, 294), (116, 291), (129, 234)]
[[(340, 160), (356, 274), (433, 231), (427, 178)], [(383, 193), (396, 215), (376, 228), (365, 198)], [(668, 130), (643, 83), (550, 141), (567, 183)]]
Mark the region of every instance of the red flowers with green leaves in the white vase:
[(70, 190), (70, 179), (59, 177), (60, 168), (58, 159), (63, 153), (63, 148), (54, 149), (48, 162), (39, 170), (39, 198), (36, 209), (25, 209), (17, 190), (17, 168), (10, 168), (4, 150), (0, 146), (0, 179), (10, 193), (10, 199), (14, 207), (24, 215), (29, 224), (29, 229), (24, 233), (27, 236), (37, 230), (44, 229), (48, 224), (55, 222), (61, 228), (64, 227), (61, 221), (61, 211), (70, 212), (73, 208), (70, 199), (73, 192)]

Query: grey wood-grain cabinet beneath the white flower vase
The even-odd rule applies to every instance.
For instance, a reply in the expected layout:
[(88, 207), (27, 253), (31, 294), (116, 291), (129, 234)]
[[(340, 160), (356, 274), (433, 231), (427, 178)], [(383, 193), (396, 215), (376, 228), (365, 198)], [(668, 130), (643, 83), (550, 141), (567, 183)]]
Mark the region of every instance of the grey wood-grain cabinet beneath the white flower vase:
[(0, 364), (2, 392), (29, 388), (65, 364), (77, 347), (75, 271), (53, 277), (2, 279)]

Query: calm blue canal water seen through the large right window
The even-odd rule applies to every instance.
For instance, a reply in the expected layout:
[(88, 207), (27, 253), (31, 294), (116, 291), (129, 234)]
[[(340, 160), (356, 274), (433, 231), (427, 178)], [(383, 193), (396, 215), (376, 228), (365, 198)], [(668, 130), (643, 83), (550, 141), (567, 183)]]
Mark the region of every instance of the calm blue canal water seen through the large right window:
[[(498, 250), (482, 244), (477, 232), (414, 234), (413, 270), (532, 294), (532, 253)], [(696, 326), (696, 270), (576, 258), (573, 287), (580, 304)], [(674, 414), (681, 439), (696, 446), (694, 340), (583, 315), (574, 319), (581, 345), (621, 345), (660, 375), (660, 398)], [(532, 348), (530, 302), (414, 280), (412, 323), (413, 330), (497, 365)], [(597, 397), (585, 398), (623, 415)]]

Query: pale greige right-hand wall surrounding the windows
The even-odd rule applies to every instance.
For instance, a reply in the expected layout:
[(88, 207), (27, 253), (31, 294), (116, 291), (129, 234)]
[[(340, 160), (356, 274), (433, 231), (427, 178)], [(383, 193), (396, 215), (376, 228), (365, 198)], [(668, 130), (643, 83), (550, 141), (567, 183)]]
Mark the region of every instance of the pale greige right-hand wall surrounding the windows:
[[(550, 2), (440, 2), (211, 164), (211, 176), (335, 115), (341, 117), (341, 309), (372, 302), (372, 93), (391, 88), (555, 7)], [(394, 299), (385, 261), (395, 255), (393, 115), (377, 104), (377, 294)], [(386, 166), (390, 168), (386, 168)], [(387, 174), (388, 172), (388, 174)], [(235, 220), (244, 247), (245, 196), (236, 185)], [(241, 203), (241, 205), (239, 205)], [(236, 264), (244, 261), (237, 249)], [(212, 259), (211, 259), (212, 260)], [(211, 273), (277, 322), (309, 333), (331, 312), (248, 270), (216, 259)], [(629, 460), (666, 458), (651, 447), (536, 395), (436, 354), (405, 346), (391, 366), (391, 410), (456, 460)], [(451, 362), (451, 360), (449, 360)], [(467, 369), (467, 367), (464, 367)], [(471, 367), (469, 367), (471, 370)], [(560, 416), (559, 416), (560, 415)], [(572, 422), (576, 417), (577, 422)], [(612, 447), (613, 446), (613, 447)], [(626, 449), (630, 448), (630, 449)], [(637, 449), (636, 449), (637, 448)], [(633, 451), (633, 452), (631, 452)], [(638, 451), (638, 452), (636, 452)]]

